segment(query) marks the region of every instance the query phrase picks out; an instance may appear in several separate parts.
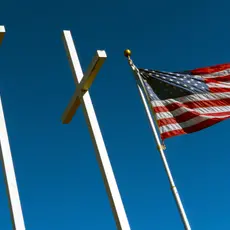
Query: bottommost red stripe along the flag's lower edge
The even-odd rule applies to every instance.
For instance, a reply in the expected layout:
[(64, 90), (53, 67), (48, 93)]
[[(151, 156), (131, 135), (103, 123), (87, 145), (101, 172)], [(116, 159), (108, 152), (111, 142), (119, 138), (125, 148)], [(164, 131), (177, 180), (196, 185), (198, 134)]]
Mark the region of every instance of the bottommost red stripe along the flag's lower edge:
[(224, 119), (223, 118), (212, 118), (212, 119), (209, 119), (209, 120), (205, 120), (203, 122), (200, 122), (200, 123), (198, 123), (196, 125), (193, 125), (193, 126), (190, 126), (188, 128), (179, 129), (179, 130), (172, 130), (172, 131), (169, 131), (169, 132), (162, 133), (161, 138), (164, 140), (166, 138), (173, 137), (173, 136), (178, 136), (178, 135), (181, 135), (181, 134), (197, 132), (199, 130), (202, 130), (204, 128), (207, 128), (209, 126), (217, 124), (218, 122), (223, 121), (225, 119), (227, 119), (227, 118), (224, 118)]

